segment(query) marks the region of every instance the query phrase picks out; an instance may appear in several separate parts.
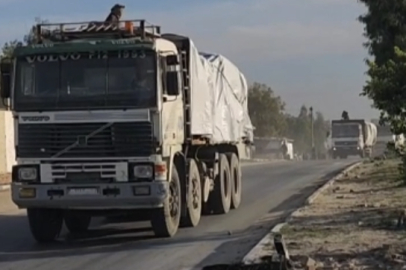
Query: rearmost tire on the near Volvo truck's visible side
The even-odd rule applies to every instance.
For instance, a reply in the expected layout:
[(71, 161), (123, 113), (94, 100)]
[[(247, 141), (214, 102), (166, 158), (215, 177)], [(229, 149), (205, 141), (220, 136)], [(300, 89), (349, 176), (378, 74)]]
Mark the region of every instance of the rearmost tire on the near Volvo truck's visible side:
[(227, 157), (230, 164), (231, 209), (237, 209), (241, 203), (242, 189), (240, 161), (234, 153), (227, 153)]

